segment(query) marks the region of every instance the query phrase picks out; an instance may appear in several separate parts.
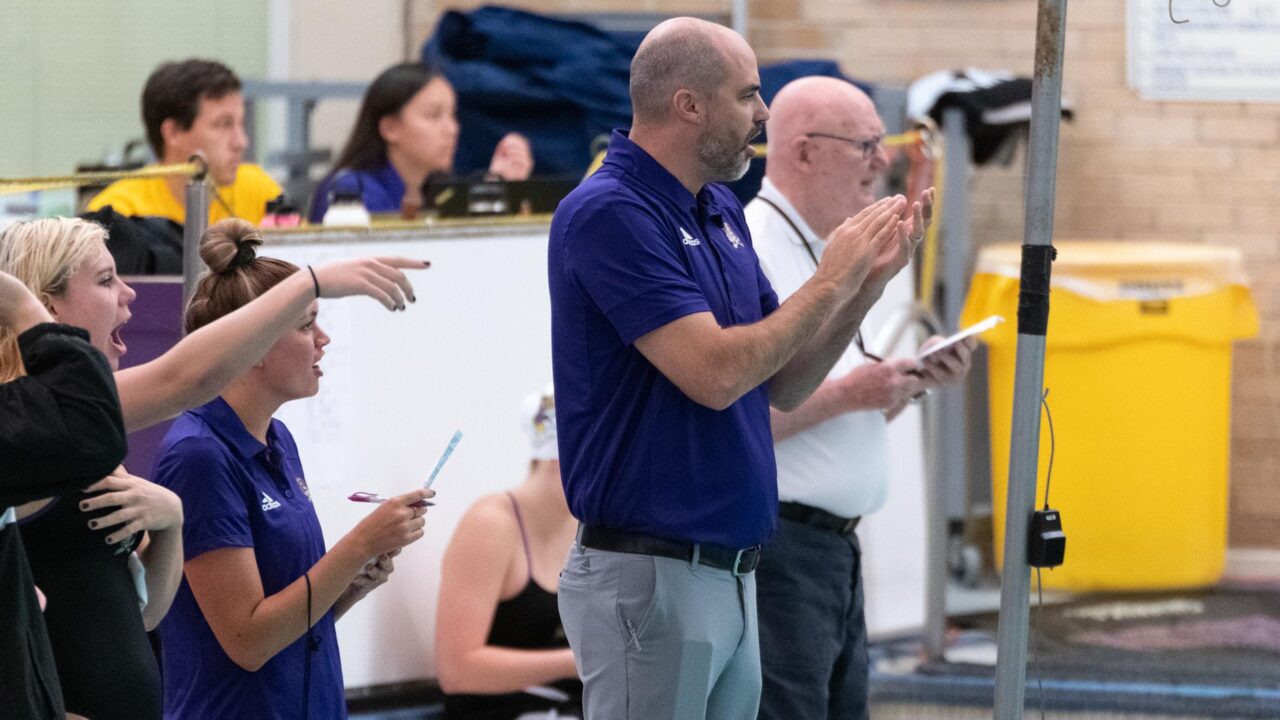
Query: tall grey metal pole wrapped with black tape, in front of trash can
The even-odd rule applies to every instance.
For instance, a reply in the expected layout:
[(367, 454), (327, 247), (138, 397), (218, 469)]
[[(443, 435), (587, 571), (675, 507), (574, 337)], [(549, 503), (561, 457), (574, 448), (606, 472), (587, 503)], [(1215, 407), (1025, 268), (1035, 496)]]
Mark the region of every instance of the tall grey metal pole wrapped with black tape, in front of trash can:
[(1025, 240), (1018, 299), (1018, 364), (1009, 450), (1009, 496), (1005, 506), (1005, 568), (996, 637), (996, 720), (1020, 719), (1027, 692), (1027, 625), (1030, 616), (1027, 533), (1036, 507), (1036, 475), (1039, 466), (1039, 402), (1044, 384), (1044, 333), (1048, 328), (1050, 268), (1053, 258), (1053, 191), (1062, 111), (1065, 37), (1066, 0), (1039, 0), (1036, 76), (1032, 85), (1032, 135), (1027, 159)]

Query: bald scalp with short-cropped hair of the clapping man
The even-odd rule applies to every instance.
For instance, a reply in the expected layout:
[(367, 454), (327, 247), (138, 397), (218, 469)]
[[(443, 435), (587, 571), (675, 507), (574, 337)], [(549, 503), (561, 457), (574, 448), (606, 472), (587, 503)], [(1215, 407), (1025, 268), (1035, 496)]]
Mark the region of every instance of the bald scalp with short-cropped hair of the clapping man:
[[(710, 95), (730, 76), (730, 58), (751, 49), (732, 29), (698, 18), (672, 18), (649, 31), (631, 60), (631, 108), (639, 123), (659, 122), (678, 90)], [(754, 55), (753, 55), (754, 58)]]

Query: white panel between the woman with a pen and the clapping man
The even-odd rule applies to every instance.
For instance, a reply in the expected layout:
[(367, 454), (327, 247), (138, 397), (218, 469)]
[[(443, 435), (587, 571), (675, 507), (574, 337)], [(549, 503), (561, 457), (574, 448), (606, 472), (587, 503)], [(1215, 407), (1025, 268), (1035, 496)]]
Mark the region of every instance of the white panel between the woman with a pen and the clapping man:
[(435, 480), (426, 537), (390, 580), (338, 623), (347, 687), (435, 676), (440, 557), (462, 512), (518, 484), (529, 441), (520, 401), (552, 378), (547, 228), (488, 237), (268, 245), (298, 265), (364, 255), (431, 260), (413, 273), (417, 304), (388, 313), (369, 299), (321, 301), (333, 338), (316, 397), (276, 415), (293, 432), (325, 543), (371, 509), (355, 491), (396, 495), (420, 484), (456, 429), (465, 437)]

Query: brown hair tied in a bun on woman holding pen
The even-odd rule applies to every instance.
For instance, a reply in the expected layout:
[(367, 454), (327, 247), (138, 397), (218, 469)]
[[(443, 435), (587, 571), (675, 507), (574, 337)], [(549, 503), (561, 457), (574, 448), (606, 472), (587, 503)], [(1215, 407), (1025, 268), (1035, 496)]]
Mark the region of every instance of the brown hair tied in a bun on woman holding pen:
[(187, 332), (248, 305), (284, 278), (298, 272), (293, 263), (259, 258), (262, 234), (251, 223), (229, 218), (209, 225), (200, 236), (200, 258), (209, 273), (200, 278), (187, 304)]

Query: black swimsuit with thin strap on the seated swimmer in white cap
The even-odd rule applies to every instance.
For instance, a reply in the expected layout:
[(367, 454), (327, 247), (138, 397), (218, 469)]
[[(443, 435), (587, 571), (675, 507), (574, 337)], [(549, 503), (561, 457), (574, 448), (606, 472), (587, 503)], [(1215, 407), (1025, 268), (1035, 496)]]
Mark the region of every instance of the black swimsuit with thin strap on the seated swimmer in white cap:
[[(520, 541), (525, 546), (525, 565), (529, 582), (511, 600), (498, 603), (489, 629), (488, 644), (517, 650), (556, 650), (568, 647), (564, 626), (561, 625), (556, 593), (534, 582), (534, 559), (529, 551), (525, 520), (520, 515), (516, 498), (507, 493), (511, 509), (520, 525)], [(507, 694), (452, 694), (445, 696), (445, 717), (451, 720), (513, 720), (525, 712), (556, 710), (570, 716), (582, 716), (582, 683), (576, 679), (558, 680), (552, 688), (568, 696), (557, 701), (530, 693)]]

